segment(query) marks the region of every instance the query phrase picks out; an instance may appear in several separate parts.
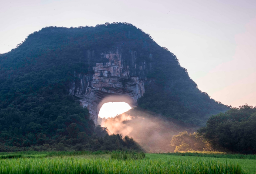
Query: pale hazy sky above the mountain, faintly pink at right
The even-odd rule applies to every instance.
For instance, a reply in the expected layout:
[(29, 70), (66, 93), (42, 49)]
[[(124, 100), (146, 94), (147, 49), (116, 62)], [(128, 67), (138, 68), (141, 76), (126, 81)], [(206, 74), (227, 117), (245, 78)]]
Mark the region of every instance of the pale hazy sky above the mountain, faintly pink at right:
[(149, 33), (213, 99), (256, 105), (256, 0), (0, 0), (0, 53), (42, 27), (105, 22)]

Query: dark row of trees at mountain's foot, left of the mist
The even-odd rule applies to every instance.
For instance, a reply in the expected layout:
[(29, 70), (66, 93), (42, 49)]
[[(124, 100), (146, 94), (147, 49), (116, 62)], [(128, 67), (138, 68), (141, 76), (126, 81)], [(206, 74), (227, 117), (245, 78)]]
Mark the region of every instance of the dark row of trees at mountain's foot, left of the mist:
[[(120, 134), (108, 135), (103, 127), (95, 127), (91, 136), (80, 131), (75, 123), (67, 127), (68, 135), (60, 134), (47, 137), (45, 134), (29, 133), (26, 136), (8, 134), (9, 139), (0, 144), (0, 152), (9, 151), (115, 151), (136, 150), (142, 151), (141, 147), (130, 137), (122, 137)], [(74, 131), (74, 132), (72, 132)], [(1, 138), (7, 134), (1, 134)], [(32, 140), (31, 140), (32, 138)], [(4, 140), (4, 138), (3, 138)], [(12, 144), (10, 144), (10, 142)]]

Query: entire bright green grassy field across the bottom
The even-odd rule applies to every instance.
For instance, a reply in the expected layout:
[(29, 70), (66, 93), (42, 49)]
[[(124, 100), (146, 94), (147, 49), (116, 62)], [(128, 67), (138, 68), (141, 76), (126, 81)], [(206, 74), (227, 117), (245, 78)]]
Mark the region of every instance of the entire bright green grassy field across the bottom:
[(0, 153), (0, 174), (255, 174), (256, 160), (137, 152)]

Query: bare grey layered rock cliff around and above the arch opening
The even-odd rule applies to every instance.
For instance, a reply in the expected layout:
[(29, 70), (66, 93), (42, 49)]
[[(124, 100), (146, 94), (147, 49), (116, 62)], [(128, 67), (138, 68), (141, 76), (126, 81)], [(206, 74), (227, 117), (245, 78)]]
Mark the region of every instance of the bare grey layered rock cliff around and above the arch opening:
[[(115, 51), (98, 53), (87, 51), (87, 60), (101, 57), (103, 62), (92, 67), (93, 74), (76, 74), (77, 80), (71, 82), (70, 94), (79, 97), (83, 107), (87, 107), (91, 119), (97, 123), (101, 106), (110, 101), (125, 101), (131, 107), (137, 105), (137, 100), (145, 92), (147, 74), (146, 63), (136, 67), (136, 51)], [(152, 54), (148, 55), (152, 57)], [(137, 64), (138, 65), (138, 64)]]

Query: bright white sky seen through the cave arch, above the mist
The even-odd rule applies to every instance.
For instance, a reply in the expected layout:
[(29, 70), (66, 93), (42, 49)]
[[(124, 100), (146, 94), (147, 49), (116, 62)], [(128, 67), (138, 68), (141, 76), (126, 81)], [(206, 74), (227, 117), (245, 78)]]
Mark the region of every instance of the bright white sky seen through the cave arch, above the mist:
[(99, 117), (115, 117), (116, 115), (122, 114), (130, 109), (130, 105), (125, 102), (108, 102), (102, 105), (99, 112)]

